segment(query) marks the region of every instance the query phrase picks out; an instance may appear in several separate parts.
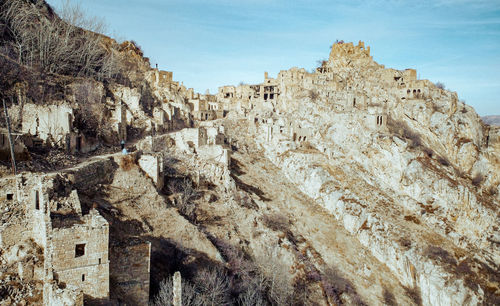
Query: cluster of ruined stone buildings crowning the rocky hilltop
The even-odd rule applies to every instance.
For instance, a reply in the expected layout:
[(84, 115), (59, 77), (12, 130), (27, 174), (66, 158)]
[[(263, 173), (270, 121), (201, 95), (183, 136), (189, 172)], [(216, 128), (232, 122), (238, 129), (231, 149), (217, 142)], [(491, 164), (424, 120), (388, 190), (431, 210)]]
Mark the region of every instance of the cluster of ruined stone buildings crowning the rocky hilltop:
[[(366, 70), (352, 69), (353, 63)], [(362, 76), (361, 76), (362, 74)], [(362, 78), (359, 87), (356, 78)], [(260, 84), (222, 86), (217, 94), (217, 102), (227, 111), (236, 111), (256, 120), (262, 127), (266, 125), (266, 138), (273, 139), (277, 132), (297, 141), (307, 139), (309, 132), (298, 126), (284, 128), (275, 121), (272, 113), (286, 112), (290, 101), (306, 97), (318, 99), (330, 105), (336, 114), (351, 113), (351, 120), (363, 122), (370, 130), (382, 131), (386, 128), (390, 110), (397, 103), (410, 100), (424, 100), (439, 95), (439, 88), (428, 80), (419, 80), (415, 69), (386, 69), (373, 61), (370, 47), (363, 42), (338, 42), (332, 46), (329, 59), (323, 61), (314, 72), (293, 67), (282, 70), (277, 78), (269, 78), (265, 73)], [(271, 114), (263, 115), (266, 111)], [(260, 113), (260, 115), (257, 115)], [(256, 119), (256, 118), (259, 119)]]

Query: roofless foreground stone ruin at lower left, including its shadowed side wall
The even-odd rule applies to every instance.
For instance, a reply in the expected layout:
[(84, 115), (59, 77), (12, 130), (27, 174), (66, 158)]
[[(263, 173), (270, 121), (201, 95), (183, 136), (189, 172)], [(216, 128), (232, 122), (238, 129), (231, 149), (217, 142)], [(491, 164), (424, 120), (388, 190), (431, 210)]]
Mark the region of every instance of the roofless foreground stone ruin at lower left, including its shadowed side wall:
[[(110, 276), (116, 276), (118, 286), (131, 289), (130, 296), (140, 304), (147, 303), (149, 242), (120, 245), (114, 254), (121, 256), (110, 259), (108, 222), (95, 209), (82, 214), (77, 191), (59, 174), (22, 174), (2, 179), (0, 185), (6, 191), (0, 209), (9, 211), (0, 222), (0, 247), (9, 250), (33, 241), (42, 250), (38, 263), (19, 262), (16, 272), (43, 284), (43, 304), (106, 301)], [(115, 261), (113, 269), (110, 260)], [(123, 262), (135, 268), (128, 270)]]

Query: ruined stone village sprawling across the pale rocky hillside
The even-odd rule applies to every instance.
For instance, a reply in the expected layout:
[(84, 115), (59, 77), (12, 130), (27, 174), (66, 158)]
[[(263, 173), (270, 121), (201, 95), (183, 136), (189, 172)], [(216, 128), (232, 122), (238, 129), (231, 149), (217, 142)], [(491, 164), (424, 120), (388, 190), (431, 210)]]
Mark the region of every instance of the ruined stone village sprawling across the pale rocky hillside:
[[(263, 245), (280, 245), (276, 256), (295, 267), (291, 275), (307, 276), (303, 301), (320, 305), (499, 301), (500, 128), (483, 124), (456, 93), (414, 69), (377, 64), (363, 42), (334, 43), (314, 72), (264, 73), (260, 84), (215, 95), (150, 68), (131, 43), (120, 52), (135, 63), (128, 83), (74, 79), (43, 104), (19, 86), (9, 102), (0, 143), (1, 305), (146, 305), (171, 272), (162, 267), (179, 256), (167, 244), (204, 254), (175, 269), (197, 258), (231, 269), (222, 239), (255, 259)], [(51, 162), (49, 151), (66, 158)], [(292, 202), (284, 225), (266, 229), (262, 211), (278, 204), (243, 182), (262, 159), (276, 178), (252, 179), (286, 178), (282, 186), (293, 187), (282, 190), (293, 192), (283, 197), (316, 203), (363, 263), (320, 245), (322, 229)], [(193, 187), (204, 190), (198, 202)], [(227, 213), (234, 219), (226, 225), (200, 221), (223, 207), (241, 211)], [(292, 239), (301, 222), (302, 240)], [(323, 275), (333, 263), (353, 285), (328, 291)]]

